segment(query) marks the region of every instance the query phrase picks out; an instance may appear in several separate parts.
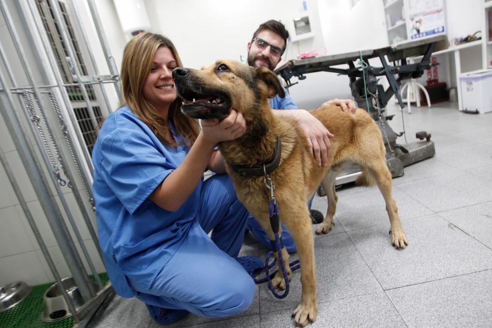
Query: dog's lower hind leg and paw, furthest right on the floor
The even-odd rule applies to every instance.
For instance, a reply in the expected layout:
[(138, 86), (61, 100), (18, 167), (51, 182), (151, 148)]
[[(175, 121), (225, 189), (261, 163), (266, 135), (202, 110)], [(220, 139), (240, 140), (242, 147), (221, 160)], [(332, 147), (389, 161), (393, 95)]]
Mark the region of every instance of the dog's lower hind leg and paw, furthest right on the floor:
[(390, 218), (390, 235), (391, 243), (395, 248), (405, 248), (408, 245), (403, 228), (401, 228), (400, 216), (398, 215), (398, 207), (392, 196), (392, 182), (391, 173), (386, 162), (383, 158), (371, 163), (369, 172), (372, 178), (376, 181), (376, 184), (383, 195), (386, 203), (386, 211)]

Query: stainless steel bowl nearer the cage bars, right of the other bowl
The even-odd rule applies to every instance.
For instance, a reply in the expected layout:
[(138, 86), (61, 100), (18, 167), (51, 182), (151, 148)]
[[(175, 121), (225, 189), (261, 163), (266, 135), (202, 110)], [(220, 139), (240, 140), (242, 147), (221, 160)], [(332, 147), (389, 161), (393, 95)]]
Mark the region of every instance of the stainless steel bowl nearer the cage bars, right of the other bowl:
[[(68, 294), (68, 297), (72, 300), (75, 310), (78, 311), (79, 308), (84, 305), (84, 299), (80, 294), (79, 288), (75, 285), (75, 280), (70, 277), (63, 278), (62, 286)], [(94, 284), (94, 289), (98, 289), (96, 284)], [(72, 315), (65, 298), (63, 298), (58, 283), (55, 283), (48, 288), (44, 293), (43, 301), (44, 310), (43, 313), (41, 313), (41, 320), (44, 322), (55, 322)]]

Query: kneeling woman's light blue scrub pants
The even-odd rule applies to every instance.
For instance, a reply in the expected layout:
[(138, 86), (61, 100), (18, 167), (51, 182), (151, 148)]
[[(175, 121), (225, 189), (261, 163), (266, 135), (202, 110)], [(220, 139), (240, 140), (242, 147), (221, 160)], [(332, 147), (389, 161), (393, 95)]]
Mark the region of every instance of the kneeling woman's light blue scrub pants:
[[(255, 284), (237, 257), (248, 212), (239, 202), (231, 179), (214, 175), (205, 180), (198, 220), (176, 254), (157, 274), (150, 290), (135, 296), (147, 304), (185, 309), (205, 317), (226, 317), (246, 310)], [(207, 233), (212, 231), (212, 238)]]

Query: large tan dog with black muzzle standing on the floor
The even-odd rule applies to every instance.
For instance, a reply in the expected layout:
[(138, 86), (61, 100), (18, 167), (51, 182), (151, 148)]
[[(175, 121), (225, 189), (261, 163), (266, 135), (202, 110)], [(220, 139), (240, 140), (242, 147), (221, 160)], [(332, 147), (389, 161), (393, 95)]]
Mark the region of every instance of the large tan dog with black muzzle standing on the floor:
[[(234, 166), (268, 162), (281, 140), (280, 162), (270, 178), (275, 184), (280, 220), (292, 234), (301, 264), (302, 297), (294, 310), (295, 324), (306, 326), (316, 320), (316, 278), (314, 275), (314, 239), (307, 201), (321, 183), (328, 195), (328, 212), (317, 234), (326, 234), (333, 225), (337, 205), (335, 178), (343, 166), (358, 163), (365, 184), (379, 187), (390, 217), (391, 241), (396, 248), (407, 245), (401, 228), (398, 209), (393, 200), (391, 174), (386, 166), (385, 149), (379, 128), (369, 114), (357, 109), (355, 114), (342, 112), (338, 106), (322, 106), (312, 112), (333, 133), (328, 166), (318, 166), (304, 132), (291, 119), (279, 119), (270, 109), (268, 98), (277, 93), (284, 96), (277, 76), (265, 67), (253, 68), (236, 61), (219, 60), (201, 70), (176, 68), (174, 82), (184, 99), (182, 112), (195, 119), (223, 119), (230, 109), (243, 114), (247, 130), (243, 137), (218, 144), (225, 158), (239, 200), (260, 222), (269, 238), (274, 234), (269, 220), (269, 190), (264, 177), (244, 177)], [(289, 255), (282, 249), (288, 279), (291, 270)], [(278, 259), (277, 259), (278, 260)], [(274, 286), (285, 289), (281, 270), (273, 279)]]

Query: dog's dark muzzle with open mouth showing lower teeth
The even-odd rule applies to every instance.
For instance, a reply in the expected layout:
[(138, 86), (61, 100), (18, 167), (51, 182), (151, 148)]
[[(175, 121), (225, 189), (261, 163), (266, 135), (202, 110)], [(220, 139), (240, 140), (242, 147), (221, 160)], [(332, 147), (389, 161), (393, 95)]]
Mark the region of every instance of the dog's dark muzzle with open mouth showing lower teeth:
[(225, 119), (229, 115), (230, 101), (224, 94), (200, 94), (184, 87), (178, 92), (183, 98), (181, 111), (193, 119)]

